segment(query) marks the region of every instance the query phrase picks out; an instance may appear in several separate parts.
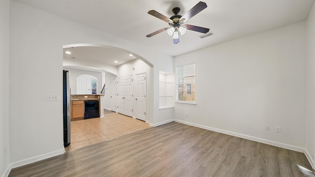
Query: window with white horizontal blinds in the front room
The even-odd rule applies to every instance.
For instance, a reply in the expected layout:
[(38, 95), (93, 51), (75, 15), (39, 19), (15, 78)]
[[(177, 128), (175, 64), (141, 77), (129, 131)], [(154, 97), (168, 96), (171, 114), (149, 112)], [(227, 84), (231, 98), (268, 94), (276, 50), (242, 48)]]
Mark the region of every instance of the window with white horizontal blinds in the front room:
[(195, 63), (176, 67), (176, 101), (195, 102)]

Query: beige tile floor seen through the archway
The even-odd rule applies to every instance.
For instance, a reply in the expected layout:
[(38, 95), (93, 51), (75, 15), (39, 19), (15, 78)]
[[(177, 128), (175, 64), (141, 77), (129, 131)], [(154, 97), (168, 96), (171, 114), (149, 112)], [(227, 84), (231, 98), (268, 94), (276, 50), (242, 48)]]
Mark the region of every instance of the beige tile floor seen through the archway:
[(144, 121), (119, 113), (104, 114), (103, 118), (71, 121), (71, 144), (65, 151), (83, 148), (150, 127)]

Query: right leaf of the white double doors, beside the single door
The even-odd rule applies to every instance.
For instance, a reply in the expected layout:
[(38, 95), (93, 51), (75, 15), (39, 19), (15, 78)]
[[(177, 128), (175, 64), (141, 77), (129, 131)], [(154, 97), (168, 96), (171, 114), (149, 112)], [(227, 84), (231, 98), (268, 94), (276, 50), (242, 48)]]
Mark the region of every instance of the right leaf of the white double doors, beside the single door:
[(124, 112), (126, 116), (132, 117), (133, 114), (133, 79), (132, 76), (124, 78)]

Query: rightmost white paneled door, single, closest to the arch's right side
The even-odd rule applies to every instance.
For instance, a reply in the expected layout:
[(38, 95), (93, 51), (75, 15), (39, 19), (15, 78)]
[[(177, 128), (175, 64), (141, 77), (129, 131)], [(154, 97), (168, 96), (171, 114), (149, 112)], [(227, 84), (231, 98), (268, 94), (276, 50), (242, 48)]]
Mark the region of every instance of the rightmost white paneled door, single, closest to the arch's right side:
[(147, 82), (146, 73), (136, 75), (136, 118), (146, 121), (146, 94), (147, 94)]

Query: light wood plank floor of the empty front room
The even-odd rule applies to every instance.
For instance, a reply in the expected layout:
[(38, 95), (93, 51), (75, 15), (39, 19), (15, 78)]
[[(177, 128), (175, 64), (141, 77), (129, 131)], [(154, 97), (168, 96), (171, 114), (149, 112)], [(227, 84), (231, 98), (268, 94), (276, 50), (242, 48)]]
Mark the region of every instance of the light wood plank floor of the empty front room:
[(171, 122), (12, 169), (9, 177), (313, 176), (309, 170), (303, 153)]

